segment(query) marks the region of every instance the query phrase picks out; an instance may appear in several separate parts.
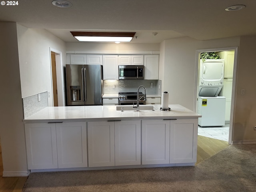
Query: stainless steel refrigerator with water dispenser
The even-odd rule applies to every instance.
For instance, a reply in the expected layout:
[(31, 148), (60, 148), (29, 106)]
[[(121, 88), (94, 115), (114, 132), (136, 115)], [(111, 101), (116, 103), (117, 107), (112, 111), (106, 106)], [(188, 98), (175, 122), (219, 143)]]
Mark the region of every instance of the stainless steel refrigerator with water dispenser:
[(67, 104), (102, 105), (102, 66), (66, 64)]

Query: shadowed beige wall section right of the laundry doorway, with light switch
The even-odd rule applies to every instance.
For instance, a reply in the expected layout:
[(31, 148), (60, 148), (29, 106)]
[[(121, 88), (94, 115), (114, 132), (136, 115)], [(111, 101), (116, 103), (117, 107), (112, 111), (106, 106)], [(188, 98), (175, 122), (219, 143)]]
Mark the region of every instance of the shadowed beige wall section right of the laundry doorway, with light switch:
[[(234, 141), (256, 140), (256, 36), (240, 38), (234, 115)], [(255, 82), (255, 83), (254, 83)], [(241, 89), (245, 94), (241, 95)]]

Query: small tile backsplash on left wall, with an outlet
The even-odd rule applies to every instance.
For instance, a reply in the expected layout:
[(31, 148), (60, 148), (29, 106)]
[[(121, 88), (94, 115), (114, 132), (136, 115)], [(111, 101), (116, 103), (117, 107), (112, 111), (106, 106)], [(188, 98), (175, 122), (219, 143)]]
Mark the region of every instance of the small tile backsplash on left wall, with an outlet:
[[(40, 95), (40, 101), (38, 101)], [(40, 94), (32, 95), (23, 98), (24, 118), (35, 114), (36, 112), (48, 107), (48, 93), (42, 92)]]

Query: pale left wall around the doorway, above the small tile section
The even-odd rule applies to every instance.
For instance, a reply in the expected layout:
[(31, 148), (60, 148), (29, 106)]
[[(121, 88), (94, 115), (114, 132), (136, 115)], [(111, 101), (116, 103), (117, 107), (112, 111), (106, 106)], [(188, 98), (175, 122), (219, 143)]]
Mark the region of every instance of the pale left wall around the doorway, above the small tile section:
[[(50, 48), (62, 52), (62, 62), (66, 64), (65, 43), (43, 29), (29, 29), (17, 24), (18, 51), (20, 61), (20, 81), (22, 98), (50, 91), (49, 106), (52, 104), (52, 69)], [(58, 100), (63, 103), (63, 67), (56, 66)]]

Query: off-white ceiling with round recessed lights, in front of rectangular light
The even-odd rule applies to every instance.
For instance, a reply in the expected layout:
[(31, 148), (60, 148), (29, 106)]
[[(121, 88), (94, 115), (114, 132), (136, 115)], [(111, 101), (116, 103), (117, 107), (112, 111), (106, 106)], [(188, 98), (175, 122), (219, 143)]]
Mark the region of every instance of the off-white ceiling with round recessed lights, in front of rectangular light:
[[(132, 43), (256, 35), (256, 0), (69, 1), (72, 7), (58, 8), (52, 0), (19, 0), (18, 6), (0, 6), (0, 21), (43, 28), (65, 42), (78, 42), (70, 31), (136, 32)], [(225, 11), (237, 4), (246, 8)]]

